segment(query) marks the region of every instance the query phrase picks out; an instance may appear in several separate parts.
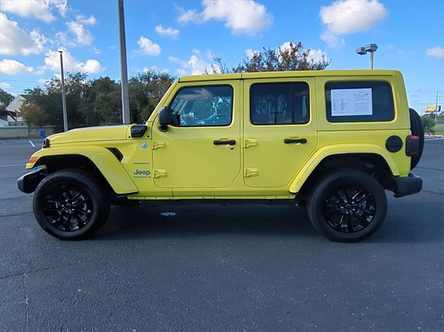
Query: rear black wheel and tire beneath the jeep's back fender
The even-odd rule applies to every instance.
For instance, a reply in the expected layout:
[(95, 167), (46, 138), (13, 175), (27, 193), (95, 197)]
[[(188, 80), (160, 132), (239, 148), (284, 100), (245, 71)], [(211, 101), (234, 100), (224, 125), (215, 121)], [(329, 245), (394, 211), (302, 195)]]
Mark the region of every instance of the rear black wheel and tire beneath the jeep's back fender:
[(307, 212), (314, 227), (330, 240), (357, 242), (381, 227), (387, 198), (374, 177), (355, 168), (342, 168), (325, 175), (314, 187)]

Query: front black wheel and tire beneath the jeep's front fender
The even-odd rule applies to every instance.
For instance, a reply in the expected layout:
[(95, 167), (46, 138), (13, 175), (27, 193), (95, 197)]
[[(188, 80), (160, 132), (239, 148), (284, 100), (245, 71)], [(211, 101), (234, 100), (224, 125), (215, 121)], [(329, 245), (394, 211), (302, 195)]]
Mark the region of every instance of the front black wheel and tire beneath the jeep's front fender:
[(105, 224), (110, 198), (94, 175), (67, 169), (51, 173), (40, 182), (33, 209), (37, 222), (52, 236), (87, 238)]

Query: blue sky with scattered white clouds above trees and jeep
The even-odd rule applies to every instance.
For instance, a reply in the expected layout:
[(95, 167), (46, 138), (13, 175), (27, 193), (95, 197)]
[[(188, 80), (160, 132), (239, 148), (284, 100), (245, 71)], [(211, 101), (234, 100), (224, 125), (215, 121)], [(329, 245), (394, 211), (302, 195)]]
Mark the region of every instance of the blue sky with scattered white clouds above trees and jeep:
[[(376, 69), (404, 75), (422, 112), (444, 95), (444, 1), (124, 0), (128, 76), (203, 73), (214, 55), (234, 67), (262, 47), (302, 42), (327, 69), (367, 69), (355, 49), (376, 43)], [(0, 0), (0, 87), (21, 94), (65, 71), (120, 78), (117, 0)]]

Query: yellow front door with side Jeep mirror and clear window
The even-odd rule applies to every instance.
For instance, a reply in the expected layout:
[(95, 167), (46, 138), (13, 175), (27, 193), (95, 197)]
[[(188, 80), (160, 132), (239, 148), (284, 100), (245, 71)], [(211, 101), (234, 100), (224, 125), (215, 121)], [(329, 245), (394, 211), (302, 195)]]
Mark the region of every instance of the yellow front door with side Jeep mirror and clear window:
[(157, 186), (184, 195), (230, 186), (241, 171), (239, 89), (239, 80), (178, 85), (167, 105), (180, 124), (153, 125)]

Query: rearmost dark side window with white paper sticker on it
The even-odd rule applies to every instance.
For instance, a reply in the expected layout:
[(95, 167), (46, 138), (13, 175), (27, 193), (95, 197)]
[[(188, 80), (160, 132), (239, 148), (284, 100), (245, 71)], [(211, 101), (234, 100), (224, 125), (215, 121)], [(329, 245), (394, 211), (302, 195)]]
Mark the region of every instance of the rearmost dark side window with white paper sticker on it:
[(341, 81), (325, 84), (329, 122), (375, 122), (395, 119), (393, 91), (384, 81)]

